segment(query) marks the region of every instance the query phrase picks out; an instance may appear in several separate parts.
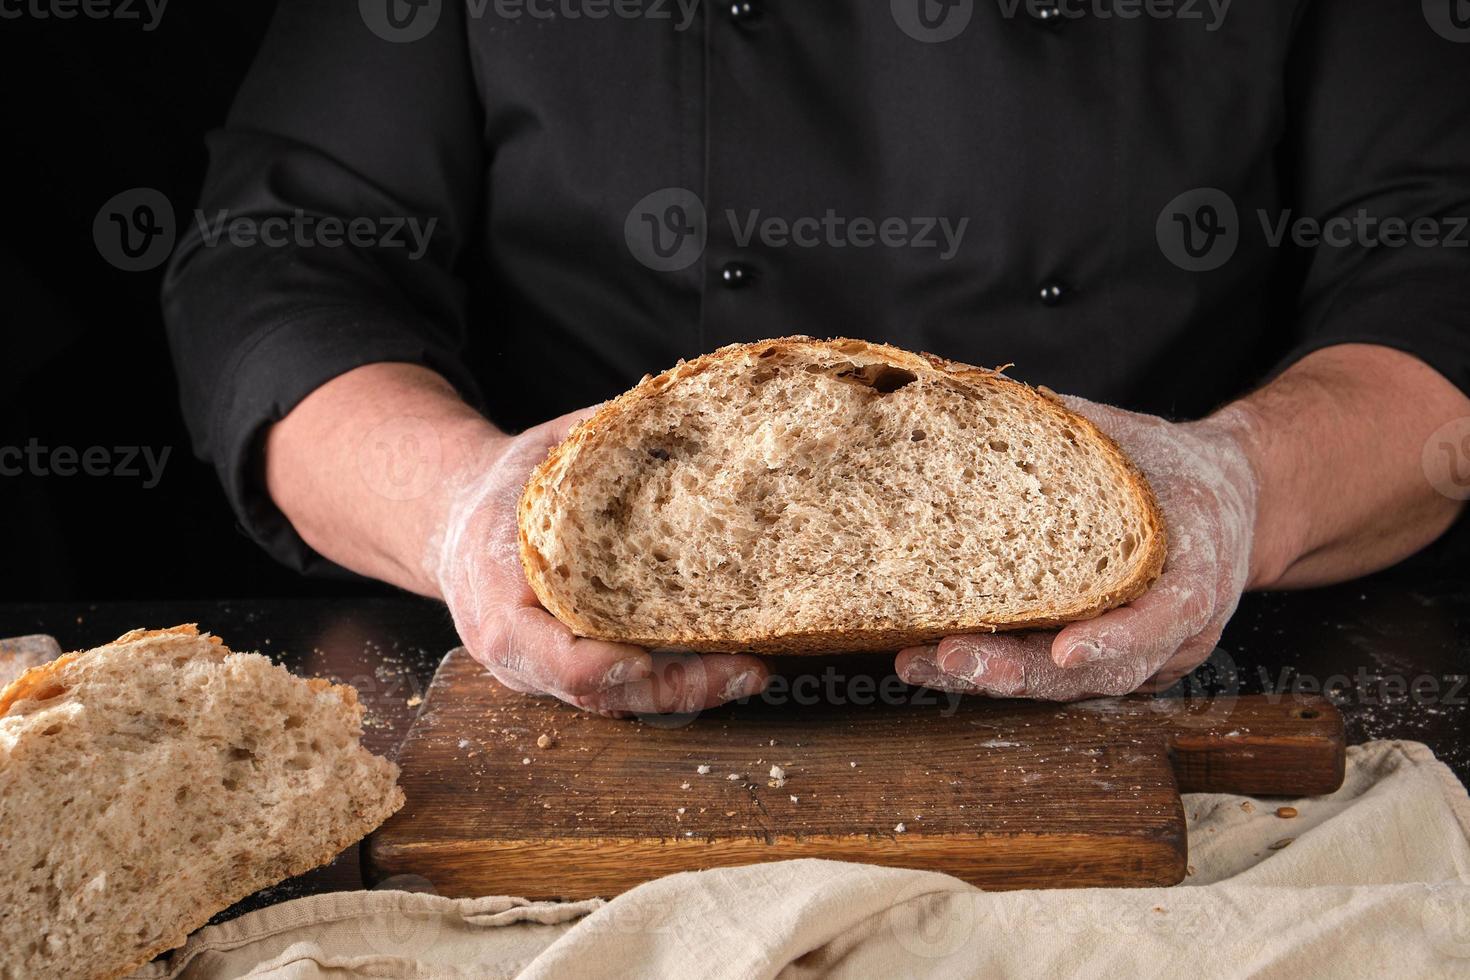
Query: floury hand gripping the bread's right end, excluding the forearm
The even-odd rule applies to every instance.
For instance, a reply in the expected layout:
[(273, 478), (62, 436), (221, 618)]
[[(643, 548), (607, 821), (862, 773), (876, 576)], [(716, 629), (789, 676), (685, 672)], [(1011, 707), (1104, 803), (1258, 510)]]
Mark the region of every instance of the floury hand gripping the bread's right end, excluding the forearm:
[(1164, 511), (1169, 554), (1142, 597), (1060, 632), (950, 636), (898, 654), (910, 683), (997, 698), (1075, 701), (1163, 689), (1214, 649), (1251, 573), (1257, 478), (1251, 419), (1230, 408), (1170, 423), (1082, 398), (1067, 407), (1113, 436)]

